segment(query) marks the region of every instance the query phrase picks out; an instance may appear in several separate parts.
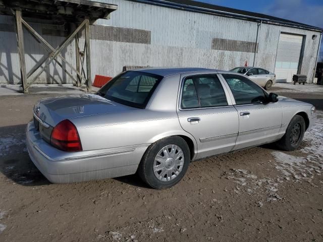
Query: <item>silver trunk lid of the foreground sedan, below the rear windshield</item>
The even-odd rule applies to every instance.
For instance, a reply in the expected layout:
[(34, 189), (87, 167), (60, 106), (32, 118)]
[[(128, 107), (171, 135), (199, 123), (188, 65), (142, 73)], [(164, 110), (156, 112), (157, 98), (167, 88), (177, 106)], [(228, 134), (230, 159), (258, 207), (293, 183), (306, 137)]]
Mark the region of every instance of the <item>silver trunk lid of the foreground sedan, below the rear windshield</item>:
[(74, 94), (38, 101), (34, 106), (34, 115), (51, 127), (55, 127), (64, 119), (134, 109), (136, 108), (107, 100), (95, 94)]

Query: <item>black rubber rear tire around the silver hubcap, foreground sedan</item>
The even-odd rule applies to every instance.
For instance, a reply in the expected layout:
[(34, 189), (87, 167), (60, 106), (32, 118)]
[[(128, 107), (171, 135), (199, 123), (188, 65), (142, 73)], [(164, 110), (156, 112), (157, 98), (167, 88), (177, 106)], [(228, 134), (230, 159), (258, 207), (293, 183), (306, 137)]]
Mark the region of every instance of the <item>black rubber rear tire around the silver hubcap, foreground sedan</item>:
[[(161, 149), (168, 145), (176, 145), (183, 151), (184, 165), (182, 166), (182, 170), (177, 174), (175, 178), (168, 181), (163, 181), (158, 179), (154, 174), (153, 165), (157, 154), (160, 152)], [(161, 139), (148, 147), (138, 166), (137, 173), (139, 174), (141, 179), (150, 187), (155, 189), (166, 189), (173, 187), (183, 178), (188, 169), (189, 163), (190, 150), (188, 148), (187, 143), (181, 137), (171, 136)]]

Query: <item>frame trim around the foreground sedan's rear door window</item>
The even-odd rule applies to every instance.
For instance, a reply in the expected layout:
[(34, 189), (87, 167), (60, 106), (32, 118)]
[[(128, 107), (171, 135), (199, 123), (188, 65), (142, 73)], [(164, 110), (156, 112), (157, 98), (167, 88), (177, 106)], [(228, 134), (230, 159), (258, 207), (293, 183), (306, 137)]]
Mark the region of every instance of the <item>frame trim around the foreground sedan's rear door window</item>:
[[(210, 106), (210, 107), (201, 107), (200, 106), (200, 101), (199, 101), (199, 96), (198, 96), (198, 93), (197, 93), (197, 89), (196, 89), (196, 86), (195, 86), (195, 81), (194, 81), (194, 78), (196, 78), (197, 76), (216, 76), (220, 83), (221, 83), (221, 86), (223, 88), (223, 91), (224, 91), (224, 94), (226, 96), (226, 99), (227, 99), (227, 105), (225, 106)], [(197, 95), (197, 99), (198, 99), (198, 104), (199, 104), (199, 107), (192, 107), (192, 108), (182, 108), (182, 97), (183, 97), (183, 91), (184, 91), (184, 85), (185, 85), (185, 81), (189, 78), (192, 78), (193, 80), (193, 84), (194, 84), (194, 88), (195, 88), (195, 91), (196, 91), (196, 95)], [(185, 76), (185, 77), (181, 77), (181, 85), (180, 85), (180, 98), (179, 98), (179, 103), (178, 103), (178, 109), (181, 110), (181, 111), (185, 111), (185, 110), (196, 110), (196, 109), (210, 109), (210, 108), (223, 108), (223, 107), (230, 107), (230, 106), (233, 106), (233, 104), (230, 104), (232, 103), (232, 101), (228, 98), (228, 95), (227, 95), (227, 92), (225, 90), (225, 87), (223, 85), (223, 82), (221, 81), (221, 79), (219, 78), (219, 75), (217, 73), (200, 73), (200, 74), (193, 74), (193, 75), (189, 75), (189, 76)], [(229, 102), (230, 100), (230, 102)]]

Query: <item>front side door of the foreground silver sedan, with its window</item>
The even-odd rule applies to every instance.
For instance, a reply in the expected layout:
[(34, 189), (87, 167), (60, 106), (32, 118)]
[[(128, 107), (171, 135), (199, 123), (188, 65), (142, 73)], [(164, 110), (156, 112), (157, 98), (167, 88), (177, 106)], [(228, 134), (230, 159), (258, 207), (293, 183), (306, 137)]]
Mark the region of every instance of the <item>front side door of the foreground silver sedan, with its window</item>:
[(239, 135), (234, 149), (275, 141), (282, 125), (280, 103), (266, 103), (264, 90), (242, 75), (222, 76), (231, 90), (239, 114)]

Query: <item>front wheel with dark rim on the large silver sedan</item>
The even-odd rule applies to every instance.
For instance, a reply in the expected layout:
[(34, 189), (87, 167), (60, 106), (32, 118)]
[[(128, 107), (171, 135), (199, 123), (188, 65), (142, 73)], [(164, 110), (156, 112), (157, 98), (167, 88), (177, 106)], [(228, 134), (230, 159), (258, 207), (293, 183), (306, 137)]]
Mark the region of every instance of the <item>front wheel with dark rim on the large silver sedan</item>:
[[(299, 134), (295, 133), (295, 128), (300, 128)], [(305, 120), (300, 115), (295, 115), (289, 123), (285, 135), (276, 144), (278, 148), (286, 151), (296, 150), (304, 137), (305, 133)]]

